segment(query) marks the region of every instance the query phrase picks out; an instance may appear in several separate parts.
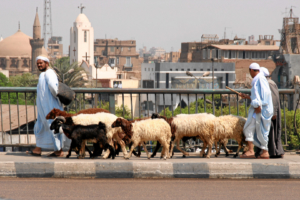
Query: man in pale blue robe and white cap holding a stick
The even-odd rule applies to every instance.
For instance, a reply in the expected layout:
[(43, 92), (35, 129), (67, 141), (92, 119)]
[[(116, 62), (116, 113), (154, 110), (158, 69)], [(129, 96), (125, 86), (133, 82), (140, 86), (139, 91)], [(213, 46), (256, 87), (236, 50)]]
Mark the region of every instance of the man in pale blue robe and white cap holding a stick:
[(268, 136), (273, 116), (273, 103), (269, 83), (263, 73), (260, 72), (260, 66), (252, 63), (249, 67), (252, 80), (251, 96), (240, 94), (244, 99), (250, 99), (251, 105), (249, 114), (244, 126), (244, 135), (249, 145), (240, 158), (255, 158), (254, 145), (262, 149), (262, 153), (257, 158), (268, 159)]

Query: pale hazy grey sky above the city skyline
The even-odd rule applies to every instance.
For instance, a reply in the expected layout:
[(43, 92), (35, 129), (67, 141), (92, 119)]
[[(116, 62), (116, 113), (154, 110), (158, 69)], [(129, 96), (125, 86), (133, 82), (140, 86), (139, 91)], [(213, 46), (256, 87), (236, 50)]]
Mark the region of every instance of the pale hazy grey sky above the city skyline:
[[(36, 7), (43, 26), (44, 0), (1, 0), (0, 35), (6, 38), (18, 30), (32, 37)], [(274, 35), (280, 40), (284, 12), (291, 6), (300, 16), (300, 0), (52, 0), (53, 36), (62, 36), (68, 52), (70, 27), (82, 3), (97, 38), (134, 39), (143, 45), (177, 51), (181, 42), (200, 41), (202, 34), (227, 38)], [(43, 29), (42, 29), (43, 30)]]

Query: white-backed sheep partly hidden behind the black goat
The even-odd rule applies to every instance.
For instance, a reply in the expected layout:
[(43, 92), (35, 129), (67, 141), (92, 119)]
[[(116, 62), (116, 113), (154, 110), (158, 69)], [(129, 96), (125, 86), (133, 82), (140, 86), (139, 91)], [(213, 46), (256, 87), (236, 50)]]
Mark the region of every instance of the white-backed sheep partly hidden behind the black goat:
[[(111, 113), (96, 113), (96, 114), (79, 114), (77, 116), (73, 116), (71, 118), (66, 118), (66, 121), (72, 121), (74, 124), (80, 124), (83, 126), (98, 124), (99, 121), (106, 125), (106, 137), (107, 142), (113, 146), (113, 139), (115, 139), (121, 146), (122, 152), (127, 155), (125, 143), (122, 140), (124, 137), (124, 133), (121, 128), (112, 128), (111, 124), (117, 119), (118, 117)], [(110, 154), (110, 150), (108, 149), (105, 154), (103, 155), (103, 159), (106, 159)]]

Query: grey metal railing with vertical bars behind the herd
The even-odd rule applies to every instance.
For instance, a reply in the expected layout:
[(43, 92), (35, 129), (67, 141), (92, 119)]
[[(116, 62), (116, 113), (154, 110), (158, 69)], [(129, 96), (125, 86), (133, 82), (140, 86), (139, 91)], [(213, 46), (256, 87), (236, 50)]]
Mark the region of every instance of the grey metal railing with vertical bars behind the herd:
[[(141, 118), (150, 116), (151, 112), (161, 112), (166, 114), (166, 107), (171, 108), (171, 116), (175, 114), (175, 100), (174, 96), (177, 99), (180, 99), (176, 112), (182, 113), (182, 96), (185, 96), (187, 102), (187, 113), (191, 114), (191, 103), (195, 103), (195, 113), (198, 113), (198, 110), (203, 112), (211, 112), (212, 114), (218, 115), (227, 114), (224, 112), (224, 109), (228, 107), (228, 114), (239, 115), (240, 109), (245, 110), (245, 116), (247, 117), (247, 109), (250, 101), (241, 100), (239, 96), (230, 90), (227, 89), (119, 89), (119, 88), (72, 88), (76, 93), (76, 100), (73, 101), (69, 106), (66, 107), (69, 112), (78, 112), (81, 109), (94, 108), (94, 107), (103, 107), (106, 106), (111, 113), (116, 113), (116, 101), (121, 99), (121, 102), (118, 102), (118, 112), (120, 116), (125, 117), (127, 108), (130, 108), (129, 118)], [(238, 89), (237, 91), (242, 93), (250, 94), (250, 89)], [(281, 108), (284, 110), (284, 145), (288, 144), (287, 133), (286, 133), (286, 107), (289, 109), (293, 108), (293, 97), (295, 95), (294, 89), (280, 89), (280, 99), (281, 99)], [(125, 103), (124, 97), (130, 99), (129, 103)], [(224, 97), (226, 96), (225, 100)], [(97, 98), (95, 98), (97, 97)], [(191, 101), (193, 97), (193, 102)], [(127, 98), (127, 99), (128, 99)], [(135, 103), (133, 102), (135, 98)], [(154, 99), (153, 110), (149, 110), (149, 99)], [(166, 98), (168, 102), (166, 103)], [(146, 110), (142, 110), (142, 100), (146, 102)], [(203, 108), (200, 109), (199, 99), (203, 100)], [(1, 117), (1, 137), (0, 137), (0, 146), (33, 146), (33, 143), (30, 143), (29, 136), (33, 134), (33, 123), (37, 118), (36, 112), (37, 108), (35, 105), (36, 102), (36, 88), (35, 87), (0, 87), (0, 117)], [(106, 103), (106, 104), (103, 104)], [(108, 104), (108, 106), (107, 106)], [(135, 105), (134, 105), (135, 104)], [(136, 105), (137, 104), (137, 105)], [(170, 106), (171, 105), (171, 106)], [(208, 106), (210, 105), (210, 106)], [(3, 110), (4, 106), (8, 110)], [(20, 111), (19, 108), (22, 106), (25, 109), (25, 117), (22, 116), (23, 124), (20, 123)], [(28, 120), (28, 106), (33, 106), (33, 115), (34, 120), (31, 122)], [(14, 107), (15, 110), (12, 110)], [(127, 107), (127, 108), (126, 108)], [(138, 111), (136, 111), (137, 107)], [(217, 107), (217, 108), (216, 108)], [(121, 112), (120, 112), (121, 109)], [(236, 112), (232, 112), (236, 109)], [(135, 111), (134, 111), (135, 110)], [(13, 113), (12, 113), (13, 111)], [(7, 113), (8, 112), (8, 113)], [(227, 112), (227, 111), (226, 111)], [(134, 114), (136, 113), (136, 114)], [(32, 115), (32, 113), (30, 113)], [(4, 119), (3, 116), (8, 116), (8, 119)], [(146, 115), (146, 116), (145, 116)], [(15, 119), (17, 118), (17, 119)], [(17, 121), (16, 128), (12, 128), (12, 120)], [(24, 119), (25, 122), (24, 122)], [(9, 130), (4, 130), (5, 122), (9, 123)], [(21, 128), (22, 127), (22, 128)], [(22, 129), (22, 130), (21, 130)], [(22, 136), (22, 138), (21, 138)], [(24, 138), (25, 137), (25, 138)], [(9, 139), (6, 139), (9, 138)], [(25, 142), (22, 142), (22, 141)], [(8, 142), (6, 142), (8, 141)], [(198, 142), (199, 143), (199, 142)], [(234, 145), (232, 140), (228, 143), (229, 145)], [(197, 145), (197, 144), (196, 144)], [(199, 145), (199, 144), (198, 144)]]

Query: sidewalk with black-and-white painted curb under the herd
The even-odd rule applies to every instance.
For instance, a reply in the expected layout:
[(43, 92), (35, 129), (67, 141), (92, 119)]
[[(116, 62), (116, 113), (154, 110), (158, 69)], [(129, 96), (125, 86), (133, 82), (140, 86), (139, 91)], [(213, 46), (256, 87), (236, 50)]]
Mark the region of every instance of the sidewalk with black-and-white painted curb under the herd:
[[(210, 159), (191, 153), (181, 153), (162, 160), (158, 156), (124, 160), (69, 159), (34, 157), (23, 152), (0, 153), (0, 177), (53, 177), (53, 178), (300, 178), (300, 154), (286, 153), (284, 159), (240, 159), (214, 155)], [(66, 152), (65, 152), (66, 155)], [(122, 153), (120, 153), (122, 155)], [(157, 155), (160, 155), (157, 154)]]

